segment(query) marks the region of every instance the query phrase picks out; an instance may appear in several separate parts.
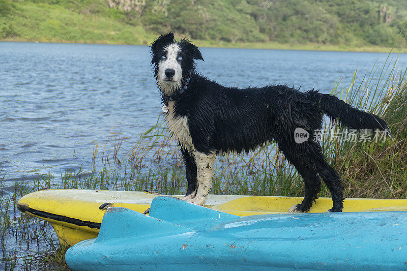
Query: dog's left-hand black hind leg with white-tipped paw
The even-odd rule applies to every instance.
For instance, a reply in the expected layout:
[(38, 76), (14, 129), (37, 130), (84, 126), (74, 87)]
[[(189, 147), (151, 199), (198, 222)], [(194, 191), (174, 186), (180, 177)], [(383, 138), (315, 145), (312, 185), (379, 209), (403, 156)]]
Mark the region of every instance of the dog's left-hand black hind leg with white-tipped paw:
[(290, 207), (288, 209), (288, 212), (289, 213), (308, 212), (312, 206), (312, 202), (318, 198), (317, 194), (319, 190), (321, 190), (321, 179), (316, 175), (315, 165), (309, 158), (304, 157), (304, 155), (302, 157), (299, 157), (298, 154), (294, 155), (292, 153), (292, 150), (286, 150), (286, 152), (284, 152), (284, 156), (290, 163), (292, 163), (295, 166), (298, 173), (301, 174), (305, 185), (305, 197), (303, 201), (300, 204), (296, 204)]

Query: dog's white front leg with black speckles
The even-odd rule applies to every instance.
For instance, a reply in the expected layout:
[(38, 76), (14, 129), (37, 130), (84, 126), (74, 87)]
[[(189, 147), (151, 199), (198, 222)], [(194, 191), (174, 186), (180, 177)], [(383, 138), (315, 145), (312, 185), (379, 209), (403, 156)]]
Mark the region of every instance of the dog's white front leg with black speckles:
[(193, 199), (187, 200), (188, 202), (196, 205), (203, 205), (208, 197), (209, 190), (212, 187), (213, 164), (215, 162), (215, 155), (213, 153), (204, 154), (195, 151), (195, 162), (197, 168), (198, 190)]

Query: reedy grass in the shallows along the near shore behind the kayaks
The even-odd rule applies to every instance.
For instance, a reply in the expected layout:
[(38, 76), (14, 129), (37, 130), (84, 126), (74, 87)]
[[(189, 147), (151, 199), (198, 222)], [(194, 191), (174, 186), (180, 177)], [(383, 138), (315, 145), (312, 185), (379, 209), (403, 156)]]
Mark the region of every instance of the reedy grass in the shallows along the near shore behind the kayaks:
[[(374, 75), (379, 79), (373, 81)], [(407, 197), (407, 73), (395, 70), (392, 63), (375, 66), (350, 86), (332, 93), (344, 101), (383, 117), (393, 138), (380, 142), (344, 140), (346, 130), (327, 121), (325, 129), (340, 136), (324, 138), (322, 146), (328, 162), (341, 175), (345, 197), (406, 198)], [(375, 77), (377, 78), (377, 77)], [(339, 130), (338, 130), (339, 129)], [(360, 139), (360, 137), (359, 137)], [(161, 194), (183, 194), (186, 191), (185, 171), (178, 146), (168, 134), (162, 118), (142, 134), (134, 147), (120, 154), (120, 140), (109, 161), (94, 149), (94, 159), (118, 163), (120, 172), (107, 170), (64, 172), (60, 176), (38, 175), (34, 180), (23, 177), (10, 184), (7, 174), (0, 172), (0, 267), (17, 269), (67, 269), (66, 248), (60, 247), (51, 226), (21, 214), (18, 199), (30, 192), (50, 188), (153, 190)], [(104, 152), (104, 148), (100, 152)], [(239, 195), (303, 196), (299, 174), (278, 152), (273, 143), (255, 152), (229, 155), (219, 159), (215, 167), (212, 193)], [(319, 196), (330, 196), (323, 185)]]

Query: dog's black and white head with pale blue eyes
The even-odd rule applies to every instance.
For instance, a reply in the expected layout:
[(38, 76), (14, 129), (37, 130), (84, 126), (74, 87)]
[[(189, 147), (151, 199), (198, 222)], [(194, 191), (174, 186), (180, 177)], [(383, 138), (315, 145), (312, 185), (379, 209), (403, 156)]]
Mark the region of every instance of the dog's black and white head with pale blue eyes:
[(162, 94), (172, 95), (182, 87), (195, 68), (195, 60), (202, 60), (199, 48), (187, 39), (174, 40), (174, 34), (162, 34), (151, 45), (154, 76)]

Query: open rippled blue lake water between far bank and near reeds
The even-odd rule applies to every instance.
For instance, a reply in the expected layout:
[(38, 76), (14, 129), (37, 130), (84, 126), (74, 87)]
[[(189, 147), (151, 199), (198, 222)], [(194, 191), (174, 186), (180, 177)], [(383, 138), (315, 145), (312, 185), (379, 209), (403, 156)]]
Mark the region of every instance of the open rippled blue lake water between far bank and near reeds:
[[(199, 72), (229, 86), (284, 83), (329, 93), (386, 53), (201, 48)], [(393, 58), (397, 55), (392, 56)], [(398, 56), (407, 67), (407, 54)], [(0, 168), (7, 183), (37, 173), (92, 170), (94, 143), (153, 126), (161, 99), (147, 46), (0, 42)], [(111, 147), (108, 145), (107, 147)], [(1, 177), (1, 176), (0, 176)]]

